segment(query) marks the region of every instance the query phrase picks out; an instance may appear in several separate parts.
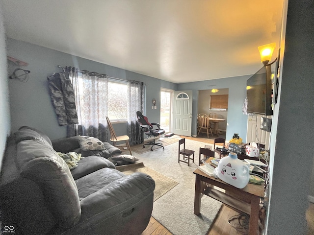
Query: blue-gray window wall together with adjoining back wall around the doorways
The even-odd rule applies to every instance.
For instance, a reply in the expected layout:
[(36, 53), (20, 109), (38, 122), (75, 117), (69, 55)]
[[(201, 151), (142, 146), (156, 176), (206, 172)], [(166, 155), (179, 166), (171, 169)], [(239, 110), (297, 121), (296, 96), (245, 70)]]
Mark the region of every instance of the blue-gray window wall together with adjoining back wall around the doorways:
[[(26, 83), (18, 80), (9, 81), (12, 133), (23, 125), (29, 125), (47, 133), (51, 139), (66, 136), (66, 128), (59, 126), (57, 123), (47, 86), (47, 76), (53, 72), (60, 71), (57, 65), (61, 65), (75, 66), (81, 70), (97, 71), (106, 73), (108, 76), (143, 81), (148, 84), (146, 86), (146, 116), (149, 117), (151, 122), (159, 122), (161, 87), (175, 91), (192, 89), (193, 135), (196, 135), (198, 90), (207, 90), (209, 84), (216, 84), (218, 89), (229, 88), (226, 139), (231, 139), (234, 133), (239, 133), (243, 140), (246, 139), (247, 116), (242, 113), (242, 105), (246, 96), (246, 80), (249, 75), (174, 84), (10, 38), (7, 39), (7, 53), (11, 57), (28, 63), (25, 69), (30, 71), (28, 74), (29, 79)], [(15, 68), (14, 65), (10, 65), (9, 71), (12, 72)], [(154, 110), (151, 109), (153, 98), (157, 101), (157, 109)], [(114, 128), (117, 135), (125, 135), (127, 133), (126, 123), (114, 124)]]

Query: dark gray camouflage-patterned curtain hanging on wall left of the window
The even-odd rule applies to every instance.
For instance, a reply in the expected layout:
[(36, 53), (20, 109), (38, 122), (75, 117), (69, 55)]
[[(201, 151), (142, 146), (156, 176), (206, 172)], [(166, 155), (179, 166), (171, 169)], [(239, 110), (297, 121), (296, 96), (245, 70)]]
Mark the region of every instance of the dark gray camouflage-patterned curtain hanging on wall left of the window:
[(58, 72), (48, 76), (47, 79), (59, 125), (78, 123), (75, 95), (69, 76), (66, 76), (66, 72)]

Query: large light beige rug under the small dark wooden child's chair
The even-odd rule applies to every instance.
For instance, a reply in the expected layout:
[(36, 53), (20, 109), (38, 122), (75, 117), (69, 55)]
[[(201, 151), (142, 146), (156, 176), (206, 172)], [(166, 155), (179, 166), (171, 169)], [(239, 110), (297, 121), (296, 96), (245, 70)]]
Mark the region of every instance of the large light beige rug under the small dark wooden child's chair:
[(165, 175), (179, 184), (154, 202), (152, 216), (173, 235), (206, 235), (215, 219), (221, 203), (203, 196), (201, 214), (194, 214), (195, 175), (198, 167), (199, 148), (204, 142), (185, 140), (185, 148), (195, 150), (195, 161), (187, 166), (178, 163), (178, 144), (169, 144), (141, 155), (134, 152), (145, 166)]

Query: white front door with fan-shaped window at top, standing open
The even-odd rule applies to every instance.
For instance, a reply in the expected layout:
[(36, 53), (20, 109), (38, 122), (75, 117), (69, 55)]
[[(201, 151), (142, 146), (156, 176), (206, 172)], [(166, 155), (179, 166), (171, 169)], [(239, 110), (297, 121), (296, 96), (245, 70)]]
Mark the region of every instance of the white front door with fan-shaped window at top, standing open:
[(191, 136), (193, 91), (176, 91), (173, 97), (173, 132)]

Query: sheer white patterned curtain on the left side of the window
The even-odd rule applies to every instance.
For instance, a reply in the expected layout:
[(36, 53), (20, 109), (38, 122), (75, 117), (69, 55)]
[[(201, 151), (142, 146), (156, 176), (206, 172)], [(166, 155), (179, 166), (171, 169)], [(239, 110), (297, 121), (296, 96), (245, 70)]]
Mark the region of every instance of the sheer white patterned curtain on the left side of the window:
[(108, 140), (107, 96), (108, 78), (97, 74), (77, 70), (71, 73), (78, 112), (78, 125), (74, 126), (74, 135), (93, 136), (101, 141)]

